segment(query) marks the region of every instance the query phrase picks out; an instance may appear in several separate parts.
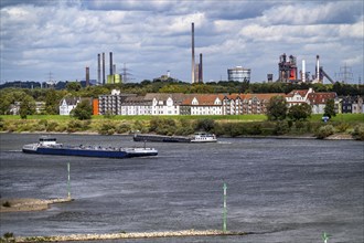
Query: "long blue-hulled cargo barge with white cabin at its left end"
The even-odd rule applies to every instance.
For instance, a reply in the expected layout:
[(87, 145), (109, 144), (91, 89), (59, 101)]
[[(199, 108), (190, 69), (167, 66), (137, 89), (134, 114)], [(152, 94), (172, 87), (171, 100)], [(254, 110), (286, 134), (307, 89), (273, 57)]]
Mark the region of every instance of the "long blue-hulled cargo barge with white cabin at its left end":
[(23, 152), (56, 156), (83, 156), (99, 158), (132, 158), (157, 156), (154, 148), (115, 148), (101, 146), (67, 146), (58, 144), (54, 137), (41, 137), (36, 144), (24, 145)]

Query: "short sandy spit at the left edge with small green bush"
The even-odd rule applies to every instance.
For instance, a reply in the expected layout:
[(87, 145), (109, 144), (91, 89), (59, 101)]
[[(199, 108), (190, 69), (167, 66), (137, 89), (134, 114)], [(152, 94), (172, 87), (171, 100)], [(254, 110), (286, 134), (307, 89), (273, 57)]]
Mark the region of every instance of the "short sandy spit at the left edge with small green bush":
[(51, 204), (71, 202), (73, 199), (0, 199), (0, 213), (47, 210)]

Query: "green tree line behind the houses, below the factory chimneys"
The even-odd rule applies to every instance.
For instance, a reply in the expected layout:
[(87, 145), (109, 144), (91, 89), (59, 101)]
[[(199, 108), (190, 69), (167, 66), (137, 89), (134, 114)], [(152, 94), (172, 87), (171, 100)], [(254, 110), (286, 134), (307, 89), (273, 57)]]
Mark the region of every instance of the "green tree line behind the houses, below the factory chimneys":
[(184, 94), (232, 94), (232, 93), (282, 93), (293, 89), (315, 92), (335, 92), (339, 96), (364, 96), (364, 85), (352, 84), (286, 84), (286, 83), (248, 83), (234, 81), (210, 82), (205, 84), (190, 84), (181, 81), (144, 80), (140, 83), (107, 84), (103, 86), (84, 87), (79, 82), (69, 82), (64, 89), (55, 88), (20, 88), (7, 87), (0, 89), (0, 115), (10, 114), (10, 107), (15, 102), (21, 104), (20, 115), (35, 113), (35, 102), (44, 102), (44, 115), (57, 115), (60, 102), (64, 97), (93, 97), (110, 94), (111, 89), (122, 93), (144, 95), (147, 93), (184, 93)]

